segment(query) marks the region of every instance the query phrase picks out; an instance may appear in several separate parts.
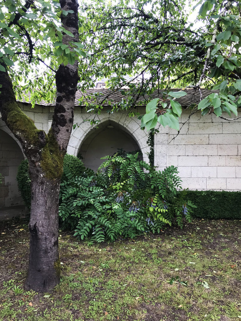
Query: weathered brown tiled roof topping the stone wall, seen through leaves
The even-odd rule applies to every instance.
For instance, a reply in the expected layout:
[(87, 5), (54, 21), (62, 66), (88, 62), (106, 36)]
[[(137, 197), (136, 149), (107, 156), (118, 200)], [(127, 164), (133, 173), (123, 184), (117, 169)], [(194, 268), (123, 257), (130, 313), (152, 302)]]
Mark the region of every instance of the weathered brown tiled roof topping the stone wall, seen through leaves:
[[(181, 89), (172, 89), (172, 91), (180, 91)], [(125, 90), (127, 91), (127, 90)], [(199, 103), (200, 101), (200, 93), (198, 90), (194, 90), (194, 89), (186, 89), (185, 92), (187, 93), (186, 96), (183, 96), (181, 98), (178, 98), (177, 101), (182, 105), (182, 107), (188, 107), (193, 103)], [(219, 92), (219, 91), (212, 91), (212, 90), (205, 90), (202, 89), (201, 93), (202, 93), (202, 98), (207, 97), (208, 95), (210, 95), (210, 93), (212, 92)], [(157, 98), (157, 97), (162, 97), (162, 93), (163, 91), (159, 91), (159, 95), (157, 91), (154, 91), (153, 94), (151, 94), (150, 96), (148, 95), (144, 95), (144, 97), (139, 97), (137, 100), (137, 104), (139, 102), (143, 102), (143, 104), (145, 104), (145, 101), (149, 101), (153, 98)], [(25, 93), (26, 95), (26, 93)], [(29, 97), (29, 99), (22, 97), (22, 100), (18, 100), (20, 102), (23, 103), (28, 103), (30, 102), (30, 95), (26, 95), (27, 97)], [(92, 96), (92, 97), (91, 97)], [(87, 101), (89, 104), (93, 103), (93, 104), (101, 104), (102, 106), (109, 106), (110, 103), (108, 103), (108, 101), (111, 101), (111, 103), (118, 103), (120, 102), (123, 98), (125, 98), (125, 95), (121, 94), (121, 91), (112, 91), (110, 89), (88, 89), (86, 90), (86, 93), (82, 93), (82, 91), (77, 90), (76, 92), (76, 100), (75, 100), (75, 106), (79, 106), (80, 102), (79, 99), (84, 98), (82, 105), (85, 105), (85, 102)], [(135, 96), (133, 97), (135, 98)], [(46, 101), (42, 101), (41, 104), (42, 106), (54, 106), (55, 102), (46, 102)]]

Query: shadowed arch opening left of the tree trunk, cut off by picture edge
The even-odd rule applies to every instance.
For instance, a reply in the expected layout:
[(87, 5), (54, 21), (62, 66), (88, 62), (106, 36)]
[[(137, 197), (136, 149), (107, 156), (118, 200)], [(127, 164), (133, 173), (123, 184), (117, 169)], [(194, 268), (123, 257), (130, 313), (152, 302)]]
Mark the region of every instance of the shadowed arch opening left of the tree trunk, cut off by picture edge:
[(23, 205), (16, 180), (18, 166), (24, 155), (16, 140), (6, 131), (0, 129), (0, 209)]

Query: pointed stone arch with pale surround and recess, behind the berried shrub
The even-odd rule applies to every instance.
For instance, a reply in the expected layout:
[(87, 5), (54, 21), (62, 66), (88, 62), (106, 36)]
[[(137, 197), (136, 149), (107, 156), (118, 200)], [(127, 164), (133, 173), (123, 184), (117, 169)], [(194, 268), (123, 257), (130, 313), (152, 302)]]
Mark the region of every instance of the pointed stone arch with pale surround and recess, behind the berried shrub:
[(85, 165), (93, 169), (101, 164), (100, 157), (113, 155), (117, 148), (126, 152), (140, 150), (143, 160), (148, 162), (148, 136), (135, 119), (124, 113), (104, 114), (98, 118), (98, 125), (91, 126), (84, 122), (83, 126), (76, 127), (70, 137), (68, 153), (75, 156), (82, 153)]

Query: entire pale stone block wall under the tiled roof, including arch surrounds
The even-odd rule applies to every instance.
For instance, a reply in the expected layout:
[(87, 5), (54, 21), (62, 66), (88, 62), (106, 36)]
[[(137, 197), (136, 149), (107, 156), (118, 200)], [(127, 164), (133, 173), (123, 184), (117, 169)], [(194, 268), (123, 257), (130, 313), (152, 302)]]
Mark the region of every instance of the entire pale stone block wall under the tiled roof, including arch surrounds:
[[(31, 117), (37, 128), (48, 132), (52, 122), (52, 106), (31, 108), (30, 104), (20, 103), (20, 107), (26, 115)], [(143, 114), (145, 108), (138, 107), (137, 111)], [(240, 115), (241, 112), (239, 112)], [(189, 113), (183, 111), (180, 127), (188, 119), (188, 116)], [(89, 122), (84, 122), (92, 117), (85, 112), (84, 108), (76, 107), (74, 122), (78, 123), (79, 127), (72, 130), (67, 148), (68, 153), (77, 156), (85, 138), (93, 133), (96, 125), (91, 126)], [(148, 162), (148, 135), (140, 129), (140, 120), (137, 117), (128, 117), (124, 112), (109, 114), (106, 110), (102, 110), (100, 115), (95, 116), (95, 119), (100, 121), (97, 125), (99, 129), (111, 124), (116, 129), (126, 131), (137, 142), (143, 153), (143, 160)], [(0, 127), (10, 136), (12, 135), (1, 119)], [(176, 130), (167, 127), (160, 127), (159, 130), (160, 133), (155, 135), (154, 140), (155, 166), (159, 170), (170, 165), (177, 166), (179, 175), (183, 180), (183, 188), (241, 190), (241, 118), (234, 122), (228, 122), (217, 118), (215, 115), (201, 117), (200, 114), (196, 113), (182, 126), (178, 135)], [(19, 145), (13, 135), (12, 138)], [(9, 150), (9, 152), (11, 151)], [(0, 154), (2, 164), (8, 161), (7, 158), (12, 159), (12, 154), (1, 150), (1, 146)], [(17, 168), (17, 165), (14, 164), (11, 166), (13, 166), (13, 169), (14, 167)], [(2, 187), (6, 186), (6, 182), (8, 186), (14, 186), (16, 170), (12, 174), (11, 179), (5, 177)], [(4, 195), (0, 207), (3, 206), (3, 197), (5, 198), (4, 206), (12, 206), (17, 201), (21, 202), (13, 196), (6, 201), (6, 197), (8, 197), (6, 196), (7, 188), (4, 188), (4, 191), (3, 189), (1, 191), (2, 194), (0, 193)], [(15, 191), (17, 191), (16, 184)], [(15, 200), (12, 201), (13, 199), (16, 202)]]

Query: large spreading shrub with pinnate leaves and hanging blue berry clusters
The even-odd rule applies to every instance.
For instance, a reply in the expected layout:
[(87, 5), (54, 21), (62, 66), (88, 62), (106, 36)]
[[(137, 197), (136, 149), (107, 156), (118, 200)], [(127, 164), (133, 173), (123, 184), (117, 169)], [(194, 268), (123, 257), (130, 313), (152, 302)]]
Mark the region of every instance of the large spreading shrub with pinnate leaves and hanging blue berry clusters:
[(138, 153), (104, 157), (97, 173), (87, 170), (61, 184), (59, 215), (62, 228), (79, 239), (103, 242), (159, 233), (166, 225), (183, 227), (194, 205), (185, 199), (177, 168), (156, 171), (138, 160)]

